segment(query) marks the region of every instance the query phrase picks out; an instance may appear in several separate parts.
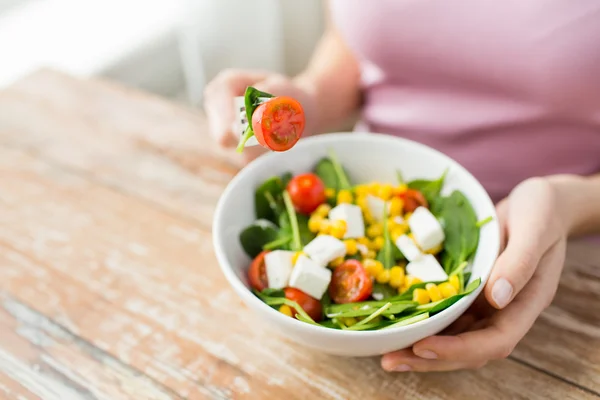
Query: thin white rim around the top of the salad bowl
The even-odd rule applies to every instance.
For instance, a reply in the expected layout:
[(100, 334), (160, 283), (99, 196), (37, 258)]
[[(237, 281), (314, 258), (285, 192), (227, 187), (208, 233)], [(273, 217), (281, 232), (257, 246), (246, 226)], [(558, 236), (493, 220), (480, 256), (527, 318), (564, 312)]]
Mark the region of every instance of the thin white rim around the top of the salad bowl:
[[(380, 330), (374, 330), (374, 331), (352, 331), (352, 330), (331, 329), (331, 328), (327, 328), (324, 326), (318, 326), (318, 325), (313, 325), (313, 324), (309, 324), (306, 322), (302, 322), (302, 321), (297, 320), (296, 318), (289, 318), (288, 316), (278, 312), (277, 310), (275, 310), (272, 307), (265, 304), (262, 300), (260, 300), (257, 296), (255, 296), (254, 293), (252, 293), (252, 291), (235, 274), (235, 272), (233, 271), (233, 267), (231, 266), (231, 264), (227, 260), (227, 257), (225, 256), (224, 249), (221, 248), (220, 244), (216, 240), (216, 238), (218, 237), (218, 232), (222, 231), (224, 228), (220, 222), (222, 218), (219, 218), (219, 216), (222, 215), (225, 211), (224, 210), (225, 199), (227, 199), (230, 196), (230, 193), (234, 190), (234, 188), (236, 187), (238, 182), (242, 181), (243, 179), (245, 179), (248, 176), (251, 176), (252, 171), (254, 169), (258, 168), (262, 164), (268, 163), (270, 159), (277, 157), (278, 153), (270, 152), (270, 153), (263, 154), (263, 155), (257, 157), (256, 159), (252, 160), (244, 168), (242, 168), (233, 177), (233, 179), (227, 184), (225, 190), (219, 197), (217, 207), (215, 208), (215, 212), (214, 212), (214, 216), (213, 216), (213, 229), (212, 229), (213, 248), (214, 248), (215, 254), (217, 256), (217, 262), (219, 263), (219, 267), (220, 267), (221, 271), (223, 272), (223, 274), (225, 275), (225, 278), (227, 279), (229, 284), (234, 288), (234, 290), (238, 293), (238, 295), (240, 295), (240, 297), (242, 297), (242, 299), (244, 301), (252, 304), (254, 306), (254, 308), (264, 310), (264, 312), (266, 312), (266, 313), (271, 312), (272, 313), (271, 315), (273, 316), (273, 318), (275, 320), (277, 320), (277, 322), (276, 322), (277, 324), (288, 326), (291, 329), (304, 331), (306, 334), (329, 335), (332, 337), (333, 336), (337, 336), (337, 337), (339, 337), (339, 336), (349, 337), (350, 336), (350, 337), (361, 337), (361, 338), (368, 338), (368, 337), (379, 338), (379, 337), (383, 337), (383, 336), (388, 336), (390, 334), (400, 334), (402, 332), (411, 331), (411, 330), (417, 329), (419, 327), (426, 326), (428, 324), (433, 324), (435, 321), (440, 320), (440, 319), (444, 318), (446, 315), (450, 314), (453, 310), (456, 310), (459, 307), (459, 305), (464, 304), (466, 302), (472, 302), (475, 300), (475, 298), (477, 296), (479, 296), (479, 294), (481, 293), (481, 291), (487, 284), (487, 280), (491, 274), (492, 268), (494, 266), (494, 263), (497, 260), (498, 253), (500, 250), (500, 227), (498, 224), (498, 215), (496, 213), (496, 208), (495, 208), (494, 203), (491, 200), (489, 194), (484, 189), (484, 187), (481, 185), (479, 180), (477, 180), (477, 178), (475, 178), (466, 168), (464, 168), (461, 164), (459, 164), (453, 158), (449, 157), (448, 155), (446, 155), (432, 147), (426, 146), (422, 143), (419, 143), (419, 142), (416, 142), (416, 141), (413, 141), (410, 139), (405, 139), (402, 137), (392, 136), (392, 135), (387, 135), (387, 134), (372, 133), (372, 132), (340, 131), (340, 132), (331, 132), (331, 133), (327, 133), (327, 134), (321, 134), (321, 135), (315, 135), (315, 136), (303, 138), (301, 141), (298, 142), (298, 144), (295, 146), (294, 150), (302, 150), (305, 146), (310, 146), (314, 142), (322, 142), (321, 144), (326, 145), (328, 143), (335, 142), (338, 140), (356, 140), (356, 139), (362, 139), (362, 140), (367, 139), (367, 140), (371, 140), (371, 141), (375, 140), (375, 141), (382, 142), (384, 144), (386, 142), (387, 143), (395, 143), (394, 145), (398, 145), (398, 142), (403, 142), (403, 144), (406, 146), (413, 147), (413, 148), (420, 148), (421, 150), (424, 150), (427, 152), (432, 152), (433, 154), (436, 154), (438, 157), (445, 159), (445, 161), (449, 164), (448, 167), (450, 169), (460, 170), (461, 173), (464, 173), (464, 174), (467, 174), (468, 176), (470, 176), (472, 178), (473, 182), (475, 182), (477, 189), (482, 191), (485, 194), (486, 201), (489, 203), (488, 205), (490, 206), (490, 209), (492, 210), (492, 212), (491, 212), (492, 221), (489, 223), (489, 225), (491, 225), (491, 226), (488, 226), (488, 229), (490, 229), (492, 226), (496, 226), (496, 229), (493, 230), (493, 232), (492, 232), (493, 235), (490, 237), (491, 240), (490, 240), (489, 246), (493, 246), (493, 248), (491, 250), (493, 250), (495, 257), (494, 257), (494, 260), (491, 262), (491, 265), (488, 268), (486, 268), (486, 270), (484, 271), (484, 274), (482, 274), (480, 276), (481, 284), (475, 291), (464, 296), (463, 298), (461, 298), (460, 300), (458, 300), (456, 303), (452, 304), (450, 307), (446, 308), (445, 310), (440, 311), (439, 313), (437, 313), (433, 316), (430, 316), (427, 319), (415, 322), (410, 325), (399, 326), (399, 327), (388, 328), (388, 329), (380, 329)], [(459, 317), (460, 317), (460, 315), (459, 315)]]

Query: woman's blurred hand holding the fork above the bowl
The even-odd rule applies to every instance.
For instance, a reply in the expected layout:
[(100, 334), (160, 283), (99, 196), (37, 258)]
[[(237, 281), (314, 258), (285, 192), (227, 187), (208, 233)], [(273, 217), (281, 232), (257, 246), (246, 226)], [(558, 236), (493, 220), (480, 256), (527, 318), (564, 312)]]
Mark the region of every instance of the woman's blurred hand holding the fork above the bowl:
[[(310, 132), (314, 100), (308, 90), (283, 75), (260, 71), (225, 70), (207, 85), (204, 94), (204, 109), (208, 117), (210, 133), (221, 146), (234, 148), (238, 144), (241, 133), (234, 132), (235, 120), (239, 118), (234, 110), (234, 98), (243, 96), (248, 86), (254, 86), (276, 96), (290, 96), (298, 100), (306, 115), (305, 132)], [(244, 150), (243, 156), (245, 161), (250, 161), (266, 151), (260, 146), (248, 147)]]

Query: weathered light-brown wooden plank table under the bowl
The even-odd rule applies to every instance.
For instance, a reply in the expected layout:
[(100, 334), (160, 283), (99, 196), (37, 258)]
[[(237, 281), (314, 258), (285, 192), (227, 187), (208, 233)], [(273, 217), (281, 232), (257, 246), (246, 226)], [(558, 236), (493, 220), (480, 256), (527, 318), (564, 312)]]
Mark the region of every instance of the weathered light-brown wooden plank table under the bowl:
[(211, 217), (237, 172), (198, 112), (40, 71), (0, 92), (0, 398), (598, 399), (600, 249), (506, 360), (388, 374), (241, 305)]

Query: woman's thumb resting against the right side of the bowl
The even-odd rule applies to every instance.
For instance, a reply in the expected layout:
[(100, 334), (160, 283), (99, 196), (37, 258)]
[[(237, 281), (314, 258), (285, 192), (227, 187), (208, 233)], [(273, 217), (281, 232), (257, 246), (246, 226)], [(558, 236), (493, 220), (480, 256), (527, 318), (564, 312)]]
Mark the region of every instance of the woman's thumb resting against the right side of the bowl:
[(505, 213), (507, 245), (496, 261), (485, 287), (488, 302), (506, 307), (533, 276), (540, 259), (558, 240), (553, 226), (553, 190), (533, 179), (517, 186)]

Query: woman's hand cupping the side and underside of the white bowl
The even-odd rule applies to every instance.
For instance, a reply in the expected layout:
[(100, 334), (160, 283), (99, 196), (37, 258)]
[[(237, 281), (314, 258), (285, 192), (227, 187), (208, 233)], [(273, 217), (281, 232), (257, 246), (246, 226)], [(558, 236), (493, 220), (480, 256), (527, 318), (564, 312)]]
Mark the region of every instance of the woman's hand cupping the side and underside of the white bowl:
[(383, 356), (382, 367), (449, 371), (508, 357), (558, 287), (570, 224), (558, 203), (546, 179), (517, 186), (497, 208), (503, 251), (482, 296), (441, 335)]

